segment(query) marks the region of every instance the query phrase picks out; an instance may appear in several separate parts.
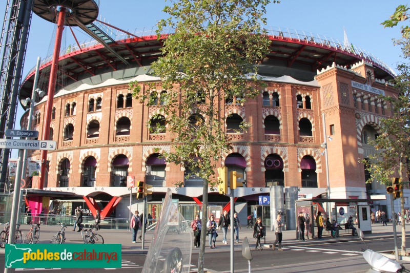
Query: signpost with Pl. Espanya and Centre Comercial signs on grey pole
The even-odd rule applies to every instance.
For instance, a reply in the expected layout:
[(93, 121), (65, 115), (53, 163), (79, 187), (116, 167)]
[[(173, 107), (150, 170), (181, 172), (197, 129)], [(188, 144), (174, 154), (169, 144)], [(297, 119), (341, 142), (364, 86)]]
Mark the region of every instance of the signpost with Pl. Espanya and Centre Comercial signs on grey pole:
[[(11, 137), (34, 137), (37, 131), (8, 130), (6, 134)], [(57, 142), (53, 140), (25, 140), (25, 139), (0, 139), (0, 149), (18, 149), (18, 163), (16, 178), (14, 181), (13, 203), (11, 206), (9, 243), (14, 242), (16, 224), (18, 217), (18, 204), (20, 194), (20, 183), (22, 179), (24, 150), (49, 150), (54, 151)]]

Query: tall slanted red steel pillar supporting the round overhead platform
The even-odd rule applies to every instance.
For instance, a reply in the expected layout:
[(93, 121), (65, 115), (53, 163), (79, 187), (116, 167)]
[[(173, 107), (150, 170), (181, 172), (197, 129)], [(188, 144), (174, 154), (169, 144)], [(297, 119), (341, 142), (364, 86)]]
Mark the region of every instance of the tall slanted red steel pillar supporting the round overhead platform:
[[(51, 70), (50, 70), (50, 81), (48, 83), (48, 92), (47, 92), (47, 105), (46, 105), (46, 112), (45, 112), (45, 123), (43, 127), (43, 136), (42, 140), (48, 140), (50, 136), (50, 122), (51, 122), (51, 111), (53, 108), (53, 100), (54, 100), (54, 93), (55, 93), (55, 82), (57, 78), (57, 70), (58, 70), (58, 57), (60, 54), (60, 47), (61, 47), (61, 37), (63, 36), (64, 30), (64, 21), (66, 19), (66, 8), (59, 7), (58, 12), (58, 20), (57, 20), (57, 33), (55, 35), (55, 42), (54, 42), (54, 53), (53, 53), (53, 60), (51, 63)], [(47, 151), (42, 150), (41, 153), (41, 175), (40, 175), (40, 182), (38, 184), (38, 188), (40, 190), (43, 189), (44, 185), (44, 178), (46, 174), (46, 163), (47, 163)]]

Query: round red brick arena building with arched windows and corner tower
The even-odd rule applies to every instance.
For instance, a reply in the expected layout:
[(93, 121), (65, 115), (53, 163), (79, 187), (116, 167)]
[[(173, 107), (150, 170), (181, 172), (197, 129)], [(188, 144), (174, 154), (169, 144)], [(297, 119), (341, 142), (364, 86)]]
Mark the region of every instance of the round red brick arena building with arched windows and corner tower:
[[(225, 125), (234, 139), (222, 165), (242, 173), (246, 185), (238, 190), (237, 204), (243, 205), (237, 210), (248, 214), (247, 207), (256, 204), (259, 195), (268, 194), (271, 185), (297, 186), (306, 197), (326, 193), (324, 127), (332, 138), (327, 138), (331, 197), (366, 198), (370, 193), (384, 193), (385, 187), (377, 183), (366, 190), (366, 174), (359, 160), (373, 152), (367, 139), (376, 137), (380, 119), (391, 113), (379, 95), (397, 94), (387, 83), (395, 73), (373, 56), (320, 36), (300, 39), (291, 33), (272, 34), (271, 51), (259, 71), (267, 87), (247, 103), (227, 98), (220, 106), (225, 116), (233, 114)], [(150, 134), (146, 125), (161, 109), (161, 93), (167, 92), (149, 69), (160, 55), (160, 41), (155, 36), (127, 38), (116, 41), (112, 48), (129, 64), (98, 44), (72, 48), (60, 56), (62, 69), (50, 133), (57, 150), (48, 153), (45, 189), (101, 200), (124, 197), (117, 199), (116, 216), (126, 218), (130, 203), (126, 179), (134, 176), (153, 185), (152, 204), (160, 204), (171, 187), (174, 198), (187, 205), (191, 218), (197, 206), (192, 215), (188, 206), (201, 199), (201, 181), (193, 176), (185, 179), (187, 171), (180, 165), (157, 157), (156, 148), (170, 151), (170, 133)], [(49, 70), (50, 62), (40, 68), (40, 89), (47, 87)], [(33, 72), (26, 77), (20, 98), (30, 96), (33, 78)], [(141, 90), (155, 84), (154, 105), (132, 98), (128, 89), (132, 80), (138, 80)], [(43, 130), (46, 100), (35, 105), (34, 130)], [(27, 118), (28, 113), (22, 118), (22, 128)], [(248, 132), (232, 133), (241, 120), (250, 121), (252, 127)], [(39, 152), (30, 155), (31, 159), (39, 156)], [(178, 191), (177, 181), (184, 183)], [(34, 177), (31, 186), (36, 185)], [(210, 196), (214, 204), (227, 201), (218, 194)]]

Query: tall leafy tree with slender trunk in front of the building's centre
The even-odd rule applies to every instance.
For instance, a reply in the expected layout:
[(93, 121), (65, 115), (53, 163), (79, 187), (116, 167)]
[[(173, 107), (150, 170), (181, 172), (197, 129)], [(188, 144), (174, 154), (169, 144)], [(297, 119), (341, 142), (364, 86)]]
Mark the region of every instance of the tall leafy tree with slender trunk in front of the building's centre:
[[(277, 1), (176, 0), (164, 9), (170, 17), (158, 23), (158, 34), (167, 28), (174, 33), (163, 40), (162, 56), (152, 64), (167, 90), (161, 108), (165, 122), (162, 128), (156, 122), (152, 130), (166, 127), (173, 134), (172, 150), (163, 154), (168, 162), (203, 179), (199, 272), (206, 245), (208, 187), (217, 186), (217, 164), (231, 148), (224, 126), (227, 116), (221, 110), (226, 98), (241, 98), (243, 103), (261, 90), (256, 65), (269, 52), (270, 40), (262, 25), (270, 2)], [(136, 98), (152, 101), (135, 82), (130, 86)], [(249, 125), (242, 122), (238, 130)]]

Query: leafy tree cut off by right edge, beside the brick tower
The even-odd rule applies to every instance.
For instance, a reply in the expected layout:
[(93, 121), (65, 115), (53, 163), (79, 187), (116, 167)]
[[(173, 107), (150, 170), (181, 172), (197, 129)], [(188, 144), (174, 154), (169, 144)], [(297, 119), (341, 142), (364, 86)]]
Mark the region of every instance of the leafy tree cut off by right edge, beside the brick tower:
[[(407, 20), (407, 6), (398, 6), (389, 20), (382, 23), (384, 27), (397, 26), (399, 22)], [(408, 26), (401, 28), (402, 38), (394, 40), (395, 45), (401, 46), (402, 57), (410, 57), (410, 29)], [(391, 178), (399, 175), (401, 178), (400, 211), (404, 215), (403, 186), (408, 186), (410, 162), (410, 66), (403, 62), (397, 69), (400, 74), (394, 79), (395, 88), (399, 91), (398, 97), (388, 97), (391, 103), (391, 117), (382, 119), (381, 134), (374, 141), (370, 141), (376, 148), (376, 153), (369, 156), (369, 161), (362, 160), (371, 178), (367, 182), (377, 180), (385, 185), (391, 185)], [(402, 241), (401, 253), (406, 252), (405, 222), (401, 225)]]

